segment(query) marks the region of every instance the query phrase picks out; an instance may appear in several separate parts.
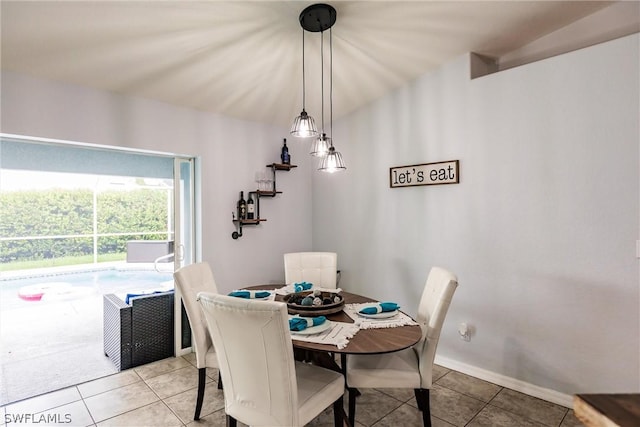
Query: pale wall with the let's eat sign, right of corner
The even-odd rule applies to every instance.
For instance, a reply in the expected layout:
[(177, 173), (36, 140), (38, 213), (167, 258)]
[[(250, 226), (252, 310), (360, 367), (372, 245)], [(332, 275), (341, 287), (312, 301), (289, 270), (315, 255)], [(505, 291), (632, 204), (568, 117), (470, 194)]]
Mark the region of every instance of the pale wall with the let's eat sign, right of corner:
[[(565, 397), (638, 392), (639, 45), (476, 80), (460, 58), (334, 124), (349, 169), (313, 178), (313, 243), (341, 286), (413, 312), (449, 268), (439, 360)], [(389, 167), (454, 159), (458, 185), (389, 188)]]

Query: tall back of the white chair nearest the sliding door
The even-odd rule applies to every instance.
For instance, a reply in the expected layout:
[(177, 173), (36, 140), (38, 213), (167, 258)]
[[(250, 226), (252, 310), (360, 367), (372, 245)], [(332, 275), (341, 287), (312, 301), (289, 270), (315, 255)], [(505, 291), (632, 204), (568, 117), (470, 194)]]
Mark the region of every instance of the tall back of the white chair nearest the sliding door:
[[(176, 287), (182, 294), (184, 308), (191, 324), (192, 343), (196, 350), (196, 364), (198, 368), (207, 366), (205, 358), (211, 347), (211, 338), (202, 316), (202, 309), (196, 300), (199, 292), (218, 293), (213, 272), (207, 262), (190, 264), (177, 270), (173, 277)], [(215, 366), (213, 366), (215, 367)]]

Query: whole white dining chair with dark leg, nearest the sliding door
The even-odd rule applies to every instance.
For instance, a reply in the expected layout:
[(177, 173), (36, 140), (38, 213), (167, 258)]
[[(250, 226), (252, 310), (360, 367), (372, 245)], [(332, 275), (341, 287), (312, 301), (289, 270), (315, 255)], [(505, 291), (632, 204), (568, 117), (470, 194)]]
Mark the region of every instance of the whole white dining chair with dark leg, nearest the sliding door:
[[(213, 278), (213, 272), (207, 262), (200, 262), (184, 266), (173, 273), (175, 284), (182, 294), (184, 308), (187, 311), (191, 326), (192, 344), (196, 351), (196, 367), (198, 368), (198, 394), (194, 420), (200, 419), (200, 410), (204, 400), (204, 388), (207, 379), (207, 368), (217, 368), (218, 359), (207, 331), (207, 325), (202, 316), (202, 309), (196, 300), (198, 292), (217, 293), (218, 287)], [(222, 389), (222, 382), (218, 375), (218, 389)]]

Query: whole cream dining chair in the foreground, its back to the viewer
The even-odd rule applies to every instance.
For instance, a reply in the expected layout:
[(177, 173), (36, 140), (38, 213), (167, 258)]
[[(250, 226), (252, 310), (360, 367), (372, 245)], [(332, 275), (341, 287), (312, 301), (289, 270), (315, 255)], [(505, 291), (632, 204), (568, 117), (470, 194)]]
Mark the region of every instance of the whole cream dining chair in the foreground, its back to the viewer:
[(224, 383), (227, 425), (303, 426), (333, 405), (342, 427), (344, 377), (294, 360), (287, 306), (198, 294)]

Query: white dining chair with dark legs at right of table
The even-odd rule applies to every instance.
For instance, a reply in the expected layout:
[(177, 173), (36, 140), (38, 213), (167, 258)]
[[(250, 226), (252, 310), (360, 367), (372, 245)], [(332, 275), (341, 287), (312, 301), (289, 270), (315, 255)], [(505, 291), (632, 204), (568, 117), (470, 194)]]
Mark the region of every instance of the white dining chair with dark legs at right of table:
[(427, 277), (418, 307), (417, 322), (422, 329), (420, 341), (408, 349), (376, 355), (349, 355), (346, 378), (349, 390), (349, 420), (355, 425), (356, 395), (361, 388), (412, 388), (425, 427), (431, 426), (429, 389), (432, 386), (433, 361), (458, 278), (451, 272), (433, 267)]

